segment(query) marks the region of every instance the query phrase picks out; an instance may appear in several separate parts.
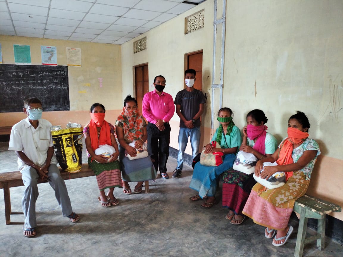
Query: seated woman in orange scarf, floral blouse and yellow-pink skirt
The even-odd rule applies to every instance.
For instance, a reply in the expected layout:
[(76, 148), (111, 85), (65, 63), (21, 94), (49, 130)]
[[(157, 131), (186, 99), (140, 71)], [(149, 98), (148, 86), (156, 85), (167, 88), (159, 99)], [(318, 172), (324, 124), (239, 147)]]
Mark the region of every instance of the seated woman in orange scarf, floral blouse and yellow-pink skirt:
[[(308, 138), (309, 128), (305, 113), (297, 111), (288, 120), (288, 137), (282, 140), (272, 156), (258, 161), (255, 167), (255, 175), (262, 179), (268, 179), (278, 171), (285, 172), (287, 178), (283, 186), (274, 189), (256, 183), (243, 209), (244, 215), (266, 227), (264, 236), (274, 238), (274, 246), (284, 245), (293, 232), (292, 226), (288, 226), (289, 217), (295, 201), (306, 193), (320, 154), (317, 142)], [(264, 162), (275, 161), (277, 166), (266, 166), (263, 170)]]

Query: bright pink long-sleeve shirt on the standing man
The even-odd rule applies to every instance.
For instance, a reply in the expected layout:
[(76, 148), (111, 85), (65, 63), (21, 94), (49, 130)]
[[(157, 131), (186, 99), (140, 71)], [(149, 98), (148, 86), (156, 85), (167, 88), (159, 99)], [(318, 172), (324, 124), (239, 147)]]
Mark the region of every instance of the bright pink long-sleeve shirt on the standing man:
[(173, 97), (165, 92), (159, 96), (155, 90), (150, 91), (143, 97), (142, 111), (150, 123), (155, 124), (157, 120), (169, 122), (175, 112)]

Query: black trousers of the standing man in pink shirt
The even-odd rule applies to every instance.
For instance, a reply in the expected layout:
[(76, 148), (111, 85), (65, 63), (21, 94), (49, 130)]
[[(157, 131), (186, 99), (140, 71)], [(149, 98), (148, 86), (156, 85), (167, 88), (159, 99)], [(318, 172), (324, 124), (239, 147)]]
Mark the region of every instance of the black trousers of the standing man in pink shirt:
[(157, 172), (157, 168), (160, 173), (167, 172), (167, 160), (169, 157), (169, 142), (170, 142), (170, 125), (164, 123), (165, 130), (160, 131), (155, 124), (148, 122), (147, 130), (147, 145), (148, 153), (152, 163)]

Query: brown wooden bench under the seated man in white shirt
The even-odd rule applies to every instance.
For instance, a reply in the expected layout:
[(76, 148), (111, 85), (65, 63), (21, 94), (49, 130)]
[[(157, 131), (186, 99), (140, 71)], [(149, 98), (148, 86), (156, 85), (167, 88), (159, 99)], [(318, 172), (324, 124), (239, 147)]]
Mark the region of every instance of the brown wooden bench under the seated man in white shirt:
[[(69, 179), (78, 179), (78, 178), (85, 178), (94, 176), (94, 171), (91, 170), (88, 167), (87, 163), (82, 164), (81, 171), (75, 172), (75, 173), (69, 173), (65, 171), (61, 171), (60, 168), (61, 177), (64, 180)], [(47, 183), (47, 180), (41, 180), (38, 179), (38, 183)], [(5, 219), (6, 224), (11, 224), (11, 214), (17, 214), (22, 212), (15, 212), (12, 213), (11, 210), (11, 195), (10, 195), (10, 187), (17, 187), (17, 186), (23, 186), (23, 180), (22, 175), (20, 171), (12, 171), (12, 172), (3, 172), (0, 173), (0, 188), (3, 188), (3, 198), (5, 202)], [(145, 186), (145, 193), (149, 193), (149, 181), (144, 181)]]

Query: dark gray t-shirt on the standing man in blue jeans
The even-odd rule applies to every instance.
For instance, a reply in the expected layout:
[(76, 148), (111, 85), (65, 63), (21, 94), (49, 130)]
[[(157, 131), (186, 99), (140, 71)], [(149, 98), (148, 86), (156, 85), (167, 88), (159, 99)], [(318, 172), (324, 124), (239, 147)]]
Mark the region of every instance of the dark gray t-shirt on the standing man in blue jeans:
[[(195, 88), (192, 92), (189, 92), (186, 89), (177, 92), (174, 100), (175, 105), (181, 105), (181, 113), (188, 121), (198, 113), (200, 103), (206, 103), (206, 99), (204, 94)], [(180, 127), (186, 127), (181, 119)], [(200, 127), (200, 118), (196, 120), (194, 127)]]

